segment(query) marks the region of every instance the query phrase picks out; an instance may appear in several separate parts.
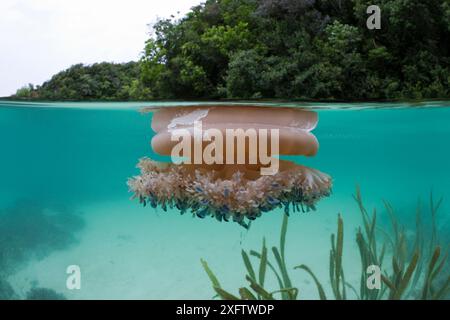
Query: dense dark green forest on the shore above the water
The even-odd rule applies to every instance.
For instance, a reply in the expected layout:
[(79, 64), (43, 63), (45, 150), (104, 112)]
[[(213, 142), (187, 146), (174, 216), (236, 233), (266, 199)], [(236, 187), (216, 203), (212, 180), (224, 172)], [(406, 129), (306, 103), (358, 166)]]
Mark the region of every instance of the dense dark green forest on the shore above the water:
[(450, 97), (450, 0), (208, 0), (152, 26), (139, 62), (75, 65), (17, 98)]

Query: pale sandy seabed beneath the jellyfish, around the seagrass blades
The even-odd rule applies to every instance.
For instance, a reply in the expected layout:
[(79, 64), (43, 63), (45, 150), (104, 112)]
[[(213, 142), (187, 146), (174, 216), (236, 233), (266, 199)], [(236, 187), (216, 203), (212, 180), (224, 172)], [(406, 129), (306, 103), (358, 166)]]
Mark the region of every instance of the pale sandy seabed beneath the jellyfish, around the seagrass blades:
[[(356, 209), (348, 200), (339, 202), (340, 208)], [(336, 199), (327, 199), (315, 213), (292, 214), (287, 235), (288, 266), (307, 264), (326, 289), (330, 235), (337, 225), (333, 204)], [(263, 236), (269, 248), (278, 245), (282, 219), (281, 212), (271, 212), (246, 231), (234, 223), (180, 216), (176, 211), (156, 213), (128, 201), (101, 203), (81, 211), (86, 227), (77, 245), (32, 261), (10, 277), (20, 295), (37, 282), (39, 287), (54, 289), (69, 299), (210, 299), (214, 293), (200, 258), (208, 262), (225, 289), (237, 294), (239, 287), (247, 285), (241, 248), (259, 251)], [(344, 268), (347, 280), (358, 287), (355, 222), (359, 222), (358, 212), (344, 213)], [(269, 255), (275, 264), (270, 251)], [(66, 288), (65, 271), (73, 264), (81, 267), (81, 290)], [(305, 272), (291, 270), (290, 274), (300, 290), (299, 298), (318, 297)], [(267, 289), (278, 289), (270, 271)]]

